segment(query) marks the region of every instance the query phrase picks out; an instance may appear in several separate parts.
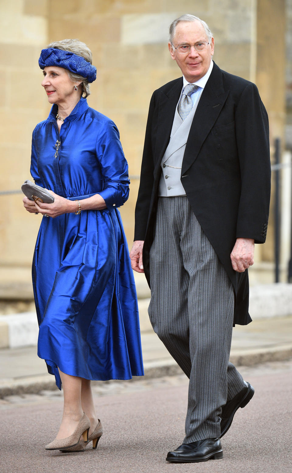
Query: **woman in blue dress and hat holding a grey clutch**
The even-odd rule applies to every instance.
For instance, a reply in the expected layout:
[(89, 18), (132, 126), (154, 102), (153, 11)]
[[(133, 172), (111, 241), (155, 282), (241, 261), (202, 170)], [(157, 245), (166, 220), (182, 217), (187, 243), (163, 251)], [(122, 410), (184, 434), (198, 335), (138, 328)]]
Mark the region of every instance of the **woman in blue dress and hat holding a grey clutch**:
[(143, 375), (133, 272), (117, 210), (128, 198), (128, 166), (115, 124), (88, 107), (96, 68), (86, 44), (51, 43), (39, 66), (53, 107), (33, 131), (31, 175), (54, 202), (23, 202), (44, 216), (32, 271), (38, 356), (64, 392), (59, 432), (45, 448), (78, 451), (85, 441), (96, 448), (102, 435), (90, 380)]

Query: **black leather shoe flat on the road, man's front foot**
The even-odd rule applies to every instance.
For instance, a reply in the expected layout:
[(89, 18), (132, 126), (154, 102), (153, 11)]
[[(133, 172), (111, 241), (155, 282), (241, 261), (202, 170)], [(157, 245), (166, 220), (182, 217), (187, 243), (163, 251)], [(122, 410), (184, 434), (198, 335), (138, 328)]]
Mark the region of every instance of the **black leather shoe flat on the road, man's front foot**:
[(180, 445), (174, 452), (168, 452), (166, 460), (172, 463), (195, 463), (222, 457), (220, 438), (206, 438)]

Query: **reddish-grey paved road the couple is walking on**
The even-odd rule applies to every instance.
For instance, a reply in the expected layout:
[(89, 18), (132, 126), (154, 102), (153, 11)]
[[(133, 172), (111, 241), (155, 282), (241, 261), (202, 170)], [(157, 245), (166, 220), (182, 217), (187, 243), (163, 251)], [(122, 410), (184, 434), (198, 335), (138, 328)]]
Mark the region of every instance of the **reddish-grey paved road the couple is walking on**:
[(256, 389), (222, 439), (224, 457), (200, 464), (168, 464), (165, 455), (184, 437), (184, 375), (95, 387), (105, 433), (97, 450), (62, 454), (44, 445), (57, 431), (58, 392), (0, 400), (1, 473), (291, 473), (292, 361), (242, 368)]

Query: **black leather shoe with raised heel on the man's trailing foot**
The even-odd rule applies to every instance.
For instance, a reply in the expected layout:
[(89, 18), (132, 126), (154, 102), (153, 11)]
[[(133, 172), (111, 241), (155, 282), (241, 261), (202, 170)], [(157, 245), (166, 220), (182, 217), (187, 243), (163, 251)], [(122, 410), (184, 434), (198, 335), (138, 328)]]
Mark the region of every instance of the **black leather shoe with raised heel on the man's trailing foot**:
[(240, 393), (236, 394), (233, 399), (228, 401), (228, 403), (222, 407), (220, 438), (223, 437), (223, 435), (225, 435), (227, 430), (230, 428), (235, 412), (239, 409), (239, 407), (245, 407), (251, 400), (252, 396), (255, 394), (255, 389), (252, 387), (252, 385), (246, 382), (244, 382), (244, 384), (245, 386), (240, 391)]

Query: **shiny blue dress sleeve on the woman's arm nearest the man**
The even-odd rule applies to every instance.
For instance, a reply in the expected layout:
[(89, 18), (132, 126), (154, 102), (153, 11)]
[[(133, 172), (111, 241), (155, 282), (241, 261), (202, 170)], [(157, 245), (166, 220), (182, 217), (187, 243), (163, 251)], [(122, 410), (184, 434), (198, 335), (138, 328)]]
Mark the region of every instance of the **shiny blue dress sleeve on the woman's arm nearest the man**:
[(106, 122), (98, 133), (96, 152), (103, 175), (103, 190), (99, 195), (105, 200), (107, 209), (113, 210), (127, 201), (130, 184), (128, 163), (115, 123)]

